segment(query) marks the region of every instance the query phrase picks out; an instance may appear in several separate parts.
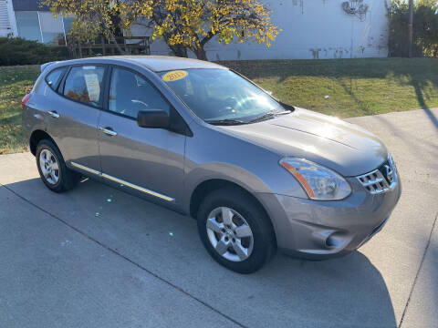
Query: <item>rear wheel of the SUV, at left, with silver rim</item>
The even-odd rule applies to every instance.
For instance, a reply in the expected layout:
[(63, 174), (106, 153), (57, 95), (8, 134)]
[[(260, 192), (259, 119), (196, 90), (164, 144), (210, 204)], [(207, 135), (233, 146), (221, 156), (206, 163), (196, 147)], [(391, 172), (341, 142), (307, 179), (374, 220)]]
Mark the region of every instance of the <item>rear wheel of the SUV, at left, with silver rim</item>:
[(57, 146), (43, 139), (36, 146), (36, 167), (49, 190), (63, 192), (74, 188), (80, 175), (68, 169)]

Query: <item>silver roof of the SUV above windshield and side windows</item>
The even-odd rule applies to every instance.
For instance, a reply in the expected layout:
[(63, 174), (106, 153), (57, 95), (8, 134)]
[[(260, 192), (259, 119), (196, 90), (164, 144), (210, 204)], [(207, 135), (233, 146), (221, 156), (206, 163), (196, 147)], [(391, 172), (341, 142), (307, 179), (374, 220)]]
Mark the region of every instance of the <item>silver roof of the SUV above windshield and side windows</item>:
[[(63, 63), (69, 62), (69, 64), (82, 64), (82, 63), (95, 63), (96, 61), (105, 62), (108, 59), (111, 62), (130, 62), (140, 64), (147, 67), (154, 72), (162, 72), (175, 69), (188, 69), (188, 68), (225, 68), (221, 65), (214, 64), (207, 61), (183, 58), (176, 56), (98, 56), (90, 58), (81, 58), (68, 60)], [(59, 62), (57, 62), (59, 63)], [(50, 65), (51, 63), (47, 63)], [(48, 65), (45, 64), (41, 68), (44, 70)]]

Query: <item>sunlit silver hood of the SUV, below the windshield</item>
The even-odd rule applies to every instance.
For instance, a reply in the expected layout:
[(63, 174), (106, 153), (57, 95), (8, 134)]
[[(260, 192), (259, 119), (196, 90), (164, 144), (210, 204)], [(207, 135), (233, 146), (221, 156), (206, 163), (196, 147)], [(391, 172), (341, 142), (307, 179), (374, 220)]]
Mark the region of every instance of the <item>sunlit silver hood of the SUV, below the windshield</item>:
[(370, 172), (388, 158), (386, 147), (369, 131), (303, 108), (258, 123), (221, 128), (282, 157), (308, 159), (347, 177)]

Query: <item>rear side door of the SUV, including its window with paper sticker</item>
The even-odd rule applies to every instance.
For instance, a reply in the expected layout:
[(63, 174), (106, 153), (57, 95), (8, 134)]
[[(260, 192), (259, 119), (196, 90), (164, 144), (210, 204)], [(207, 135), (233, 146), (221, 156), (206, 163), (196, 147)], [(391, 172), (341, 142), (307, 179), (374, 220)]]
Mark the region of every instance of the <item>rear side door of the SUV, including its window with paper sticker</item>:
[(102, 65), (69, 67), (58, 87), (62, 97), (47, 111), (47, 129), (68, 166), (91, 173), (100, 171), (97, 126), (105, 71)]

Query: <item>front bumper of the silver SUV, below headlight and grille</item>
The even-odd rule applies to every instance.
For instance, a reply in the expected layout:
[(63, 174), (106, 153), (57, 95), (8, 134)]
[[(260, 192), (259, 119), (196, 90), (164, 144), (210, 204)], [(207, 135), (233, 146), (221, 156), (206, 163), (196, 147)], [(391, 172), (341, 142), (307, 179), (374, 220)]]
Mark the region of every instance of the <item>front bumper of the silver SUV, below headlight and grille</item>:
[(371, 195), (356, 178), (345, 200), (305, 200), (260, 194), (276, 231), (278, 249), (287, 254), (323, 260), (354, 251), (381, 231), (401, 196), (398, 177), (393, 189)]

